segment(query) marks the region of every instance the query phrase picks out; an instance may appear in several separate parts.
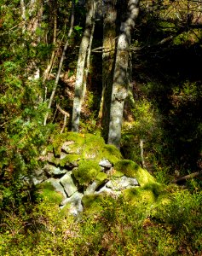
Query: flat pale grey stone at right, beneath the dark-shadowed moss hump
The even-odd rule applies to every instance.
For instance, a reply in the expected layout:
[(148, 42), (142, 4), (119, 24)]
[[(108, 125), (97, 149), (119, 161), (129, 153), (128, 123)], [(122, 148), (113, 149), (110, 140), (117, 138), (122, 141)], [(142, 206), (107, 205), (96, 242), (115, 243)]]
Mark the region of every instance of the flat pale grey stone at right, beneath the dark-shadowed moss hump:
[(123, 176), (108, 181), (106, 186), (109, 189), (122, 190), (129, 187), (131, 188), (139, 186), (139, 183), (137, 182), (136, 178)]

